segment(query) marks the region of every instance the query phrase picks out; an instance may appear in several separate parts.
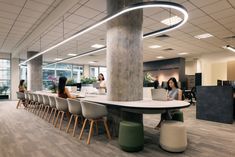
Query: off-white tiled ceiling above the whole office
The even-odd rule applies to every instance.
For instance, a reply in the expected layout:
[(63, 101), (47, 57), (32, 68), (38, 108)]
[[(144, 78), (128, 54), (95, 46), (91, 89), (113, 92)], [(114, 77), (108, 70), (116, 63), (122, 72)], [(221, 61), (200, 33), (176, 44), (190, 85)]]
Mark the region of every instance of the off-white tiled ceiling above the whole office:
[[(70, 3), (72, 7), (67, 6), (69, 9), (62, 15), (55, 14), (65, 1), (68, 0), (0, 0), (0, 52), (12, 53), (13, 56), (25, 59), (27, 50), (44, 50), (107, 15), (106, 0), (73, 0), (76, 3)], [(186, 58), (199, 57), (205, 53), (230, 53), (222, 46), (235, 46), (234, 39), (225, 38), (235, 35), (235, 0), (171, 1), (182, 4), (188, 10), (189, 20), (181, 28), (167, 33), (169, 38), (144, 39), (144, 61), (157, 60), (157, 56), (182, 57), (178, 55), (180, 52), (189, 53), (183, 56)], [(48, 18), (53, 13), (56, 21), (49, 24)], [(174, 11), (171, 14), (178, 15)], [(160, 21), (172, 15), (169, 10), (161, 8), (145, 9), (143, 32), (165, 27)], [(204, 33), (210, 33), (213, 37), (201, 40), (194, 38)], [(54, 58), (66, 58), (68, 53), (83, 53), (94, 49), (91, 45), (105, 45), (105, 42), (106, 26), (103, 25), (44, 54), (43, 59), (54, 61)], [(148, 48), (154, 44), (162, 47)], [(173, 50), (164, 50), (167, 48)], [(89, 61), (105, 65), (105, 51), (69, 62), (88, 64)]]

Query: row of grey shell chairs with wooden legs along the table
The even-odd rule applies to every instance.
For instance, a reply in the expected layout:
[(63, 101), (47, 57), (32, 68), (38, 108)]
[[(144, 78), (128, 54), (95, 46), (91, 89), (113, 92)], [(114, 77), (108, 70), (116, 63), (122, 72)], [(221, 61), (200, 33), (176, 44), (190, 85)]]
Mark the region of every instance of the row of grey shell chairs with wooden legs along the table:
[[(59, 122), (60, 130), (62, 129), (64, 114), (67, 114), (68, 117), (71, 115), (65, 130), (67, 133), (69, 132), (71, 122), (74, 118), (75, 122), (73, 126), (73, 136), (75, 136), (76, 127), (80, 118), (81, 122), (83, 123), (79, 135), (80, 140), (82, 139), (86, 124), (89, 122), (90, 128), (87, 144), (90, 144), (94, 124), (96, 126), (96, 134), (98, 135), (99, 121), (103, 121), (108, 139), (111, 139), (106, 118), (108, 112), (106, 106), (104, 105), (89, 101), (80, 101), (79, 99), (64, 99), (60, 97), (48, 96), (31, 92), (17, 92), (17, 97), (19, 101), (17, 103), (16, 108), (18, 108), (20, 104), (25, 103), (26, 110), (35, 113), (42, 119), (45, 118), (45, 120), (47, 120), (49, 123), (53, 115), (52, 124), (54, 125), (54, 127), (57, 127), (57, 124)], [(83, 121), (84, 118), (85, 120)]]

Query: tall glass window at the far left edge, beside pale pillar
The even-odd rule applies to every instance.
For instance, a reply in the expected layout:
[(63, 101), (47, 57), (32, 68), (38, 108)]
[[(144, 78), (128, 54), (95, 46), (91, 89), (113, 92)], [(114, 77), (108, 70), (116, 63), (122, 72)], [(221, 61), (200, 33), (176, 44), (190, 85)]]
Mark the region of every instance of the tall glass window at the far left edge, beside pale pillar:
[[(0, 97), (10, 95), (11, 89), (11, 66), (9, 59), (0, 59)], [(4, 97), (8, 99), (9, 97)]]

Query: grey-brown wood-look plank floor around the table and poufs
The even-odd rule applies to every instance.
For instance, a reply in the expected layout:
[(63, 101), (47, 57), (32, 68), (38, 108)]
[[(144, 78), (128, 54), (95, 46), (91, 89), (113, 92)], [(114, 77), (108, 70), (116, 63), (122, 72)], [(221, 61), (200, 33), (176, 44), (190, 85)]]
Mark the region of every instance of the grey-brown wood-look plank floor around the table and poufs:
[[(159, 131), (153, 127), (159, 115), (144, 115), (145, 148), (138, 153), (120, 150), (117, 139), (94, 136), (91, 144), (54, 128), (23, 108), (16, 101), (0, 101), (0, 157), (235, 157), (235, 123), (232, 125), (195, 119), (195, 106), (184, 109), (188, 148), (183, 153), (168, 153), (158, 146)], [(64, 126), (67, 121), (64, 121)], [(84, 134), (87, 137), (87, 133)], [(84, 138), (83, 138), (84, 139)]]

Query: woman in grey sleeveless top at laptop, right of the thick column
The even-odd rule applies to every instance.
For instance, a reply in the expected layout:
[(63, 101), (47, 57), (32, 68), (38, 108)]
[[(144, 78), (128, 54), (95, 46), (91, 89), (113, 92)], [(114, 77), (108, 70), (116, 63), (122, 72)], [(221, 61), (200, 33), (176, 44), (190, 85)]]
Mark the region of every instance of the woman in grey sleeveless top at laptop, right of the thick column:
[[(179, 89), (177, 81), (174, 77), (171, 77), (167, 81), (167, 88), (168, 88), (167, 90), (168, 100), (182, 100), (182, 90)], [(158, 123), (158, 125), (155, 127), (155, 129), (159, 129), (161, 127), (162, 121), (171, 119), (172, 115), (176, 111), (178, 110), (169, 110), (168, 112), (162, 113), (161, 120)]]

